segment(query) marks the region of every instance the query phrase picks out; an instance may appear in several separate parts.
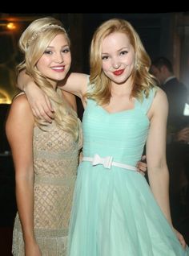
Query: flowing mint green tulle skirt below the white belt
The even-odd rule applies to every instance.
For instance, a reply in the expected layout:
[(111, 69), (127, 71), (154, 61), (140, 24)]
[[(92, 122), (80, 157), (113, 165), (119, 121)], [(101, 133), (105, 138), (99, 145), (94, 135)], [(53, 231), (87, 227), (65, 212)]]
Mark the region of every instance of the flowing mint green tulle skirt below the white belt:
[(68, 256), (187, 256), (143, 175), (82, 162)]

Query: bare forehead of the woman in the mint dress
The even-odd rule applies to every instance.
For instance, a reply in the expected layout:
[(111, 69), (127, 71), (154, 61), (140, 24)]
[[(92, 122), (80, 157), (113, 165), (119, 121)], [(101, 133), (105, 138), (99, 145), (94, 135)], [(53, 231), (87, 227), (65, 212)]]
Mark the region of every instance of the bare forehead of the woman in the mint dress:
[(114, 32), (103, 39), (104, 47), (127, 47), (130, 45), (129, 37), (122, 32)]

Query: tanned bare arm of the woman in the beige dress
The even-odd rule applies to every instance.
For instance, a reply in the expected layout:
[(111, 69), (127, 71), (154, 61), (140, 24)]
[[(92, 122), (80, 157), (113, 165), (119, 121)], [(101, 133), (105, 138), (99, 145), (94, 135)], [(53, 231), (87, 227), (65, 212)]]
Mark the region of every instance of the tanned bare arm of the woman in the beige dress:
[(14, 160), (16, 200), (26, 250), (41, 255), (34, 239), (34, 116), (25, 95), (14, 99), (6, 120), (6, 136)]

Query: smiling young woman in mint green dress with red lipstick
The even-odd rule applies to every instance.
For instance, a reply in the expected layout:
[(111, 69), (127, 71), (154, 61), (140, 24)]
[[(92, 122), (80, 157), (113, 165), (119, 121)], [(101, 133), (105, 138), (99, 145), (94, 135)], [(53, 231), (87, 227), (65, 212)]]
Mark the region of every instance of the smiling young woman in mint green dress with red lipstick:
[[(72, 73), (60, 85), (81, 97), (85, 107), (69, 256), (189, 255), (171, 222), (165, 154), (168, 104), (148, 72), (150, 65), (131, 24), (111, 19), (94, 33), (90, 79)], [(28, 77), (21, 78), (32, 107), (46, 118), (50, 112), (44, 96), (28, 86)], [(136, 171), (145, 144), (149, 185)]]

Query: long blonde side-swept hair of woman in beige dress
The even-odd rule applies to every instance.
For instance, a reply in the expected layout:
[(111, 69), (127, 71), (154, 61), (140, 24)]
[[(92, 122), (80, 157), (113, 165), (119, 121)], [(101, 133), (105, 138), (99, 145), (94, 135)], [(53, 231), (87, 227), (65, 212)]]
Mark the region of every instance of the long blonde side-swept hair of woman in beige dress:
[[(17, 72), (26, 69), (26, 74), (28, 74), (36, 85), (49, 97), (54, 109), (54, 122), (62, 130), (73, 134), (76, 140), (78, 138), (77, 114), (70, 108), (70, 105), (62, 99), (61, 90), (54, 90), (50, 82), (36, 67), (38, 60), (46, 51), (46, 47), (48, 47), (52, 39), (59, 34), (66, 36), (66, 40), (70, 46), (70, 39), (59, 20), (52, 17), (45, 17), (36, 19), (33, 23), (30, 23), (29, 27), (23, 31), (18, 42), (19, 48), (25, 58), (22, 63), (18, 64)], [(35, 121), (41, 129), (45, 130), (47, 124), (44, 124), (42, 120), (37, 118)]]

